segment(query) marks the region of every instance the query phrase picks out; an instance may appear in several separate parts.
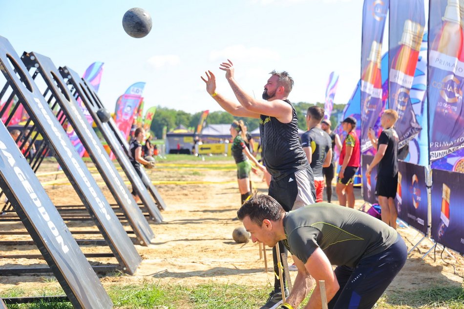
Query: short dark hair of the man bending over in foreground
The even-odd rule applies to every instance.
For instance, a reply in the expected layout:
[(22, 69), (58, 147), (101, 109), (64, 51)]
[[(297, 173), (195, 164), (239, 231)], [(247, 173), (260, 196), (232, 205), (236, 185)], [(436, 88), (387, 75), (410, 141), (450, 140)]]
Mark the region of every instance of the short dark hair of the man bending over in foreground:
[(237, 211), (237, 216), (240, 221), (249, 216), (252, 222), (261, 226), (264, 219), (279, 221), (283, 213), (285, 210), (273, 197), (255, 193), (252, 198), (243, 203)]

